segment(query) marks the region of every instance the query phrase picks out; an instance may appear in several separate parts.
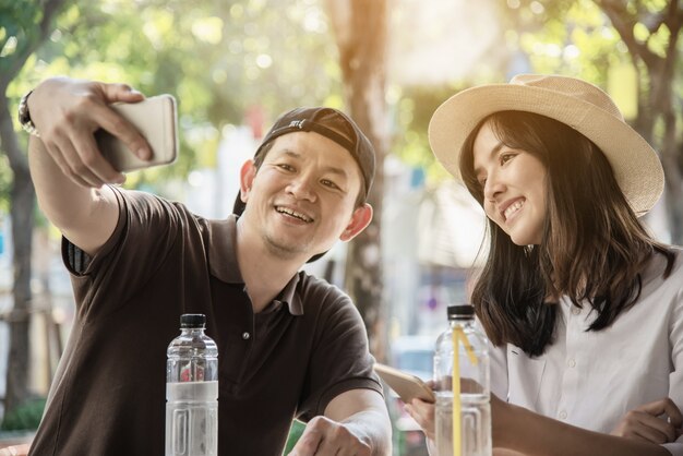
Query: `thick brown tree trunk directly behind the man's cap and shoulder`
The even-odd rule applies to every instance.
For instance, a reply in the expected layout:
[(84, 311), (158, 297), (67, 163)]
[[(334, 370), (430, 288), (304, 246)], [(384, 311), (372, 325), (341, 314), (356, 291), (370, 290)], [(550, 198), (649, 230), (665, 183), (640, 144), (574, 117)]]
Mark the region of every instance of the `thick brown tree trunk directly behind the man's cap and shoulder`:
[(386, 120), (386, 0), (329, 0), (331, 22), (339, 49), (348, 113), (368, 135), (376, 152), (369, 203), (370, 226), (350, 244), (346, 262), (346, 290), (358, 307), (372, 352), (384, 358), (386, 303), (383, 299), (382, 200), (384, 157), (388, 148)]

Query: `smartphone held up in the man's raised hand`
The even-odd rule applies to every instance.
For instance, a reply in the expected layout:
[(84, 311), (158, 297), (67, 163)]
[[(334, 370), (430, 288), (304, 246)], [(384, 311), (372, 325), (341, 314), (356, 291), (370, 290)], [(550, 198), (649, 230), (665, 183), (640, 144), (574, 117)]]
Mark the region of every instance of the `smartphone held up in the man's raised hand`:
[(147, 140), (152, 159), (137, 158), (121, 140), (105, 130), (95, 133), (97, 146), (105, 158), (121, 172), (168, 165), (178, 156), (178, 115), (176, 99), (168, 94), (145, 98), (140, 103), (115, 103), (110, 107), (128, 119)]

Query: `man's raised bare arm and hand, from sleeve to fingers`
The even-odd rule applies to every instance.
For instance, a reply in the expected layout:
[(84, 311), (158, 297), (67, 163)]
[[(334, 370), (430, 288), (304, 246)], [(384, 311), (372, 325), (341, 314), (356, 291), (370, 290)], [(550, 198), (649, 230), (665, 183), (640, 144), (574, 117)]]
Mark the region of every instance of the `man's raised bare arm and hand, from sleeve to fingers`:
[(105, 183), (124, 180), (101, 156), (94, 133), (104, 128), (141, 158), (148, 157), (146, 141), (108, 107), (143, 98), (127, 85), (63, 77), (46, 80), (28, 97), (40, 133), (28, 145), (38, 204), (67, 239), (91, 255), (109, 239), (118, 220), (116, 196)]

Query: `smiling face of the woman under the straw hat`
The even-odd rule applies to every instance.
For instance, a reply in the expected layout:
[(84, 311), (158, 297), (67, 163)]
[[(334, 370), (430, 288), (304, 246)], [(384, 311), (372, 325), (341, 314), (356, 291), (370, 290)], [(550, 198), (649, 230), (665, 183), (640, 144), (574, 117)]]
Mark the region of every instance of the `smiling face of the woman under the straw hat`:
[(487, 216), (515, 244), (540, 244), (548, 212), (541, 160), (504, 145), (487, 122), (475, 139), (474, 167)]

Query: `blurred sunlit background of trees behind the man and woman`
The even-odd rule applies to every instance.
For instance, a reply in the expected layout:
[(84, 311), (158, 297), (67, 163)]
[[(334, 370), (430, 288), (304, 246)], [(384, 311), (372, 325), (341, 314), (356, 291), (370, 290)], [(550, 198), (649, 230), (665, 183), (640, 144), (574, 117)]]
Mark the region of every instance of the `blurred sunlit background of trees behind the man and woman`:
[[(375, 219), (310, 269), (355, 299), (378, 360), (427, 379), (484, 235), (482, 211), (429, 149), (436, 106), (524, 72), (599, 85), (664, 165), (664, 197), (646, 224), (683, 244), (682, 25), (678, 0), (0, 0), (0, 447), (31, 440), (74, 314), (15, 115), (43, 79), (175, 95), (178, 161), (125, 187), (211, 218), (230, 213), (239, 167), (280, 112), (348, 112), (380, 154)], [(426, 454), (415, 422), (387, 401), (395, 453)]]

